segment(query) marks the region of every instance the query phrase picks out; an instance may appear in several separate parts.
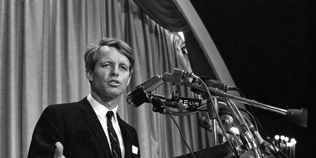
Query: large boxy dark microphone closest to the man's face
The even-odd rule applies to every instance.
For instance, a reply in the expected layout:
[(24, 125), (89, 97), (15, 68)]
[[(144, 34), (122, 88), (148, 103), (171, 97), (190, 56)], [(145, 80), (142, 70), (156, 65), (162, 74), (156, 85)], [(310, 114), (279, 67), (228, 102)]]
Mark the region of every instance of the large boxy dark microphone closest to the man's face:
[(162, 83), (163, 80), (158, 75), (155, 75), (154, 77), (146, 80), (142, 84), (136, 86), (126, 95), (127, 103), (133, 105), (136, 108), (145, 102), (150, 103), (150, 97), (147, 94), (150, 94)]

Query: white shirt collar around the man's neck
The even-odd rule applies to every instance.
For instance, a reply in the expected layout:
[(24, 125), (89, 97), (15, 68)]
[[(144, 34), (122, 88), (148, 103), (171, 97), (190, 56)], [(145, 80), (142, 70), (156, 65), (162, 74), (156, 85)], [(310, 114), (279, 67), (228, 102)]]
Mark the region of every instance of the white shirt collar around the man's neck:
[[(102, 119), (104, 119), (106, 117), (106, 114), (108, 113), (108, 111), (110, 111), (108, 108), (106, 108), (105, 106), (103, 106), (102, 104), (100, 104), (99, 102), (97, 102), (92, 96), (91, 93), (89, 93), (89, 95), (87, 96), (87, 100), (89, 101), (89, 103), (91, 104), (94, 112)], [(118, 105), (112, 109), (111, 111), (113, 111), (114, 113), (114, 119), (117, 119), (117, 111), (118, 111)]]

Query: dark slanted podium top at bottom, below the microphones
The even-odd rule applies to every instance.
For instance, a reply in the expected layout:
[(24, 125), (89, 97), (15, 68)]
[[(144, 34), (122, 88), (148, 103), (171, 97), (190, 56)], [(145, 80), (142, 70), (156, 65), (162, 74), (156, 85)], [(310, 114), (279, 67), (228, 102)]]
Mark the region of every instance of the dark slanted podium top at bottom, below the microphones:
[[(232, 149), (227, 143), (193, 152), (196, 158), (234, 158)], [(193, 158), (191, 154), (175, 158)]]

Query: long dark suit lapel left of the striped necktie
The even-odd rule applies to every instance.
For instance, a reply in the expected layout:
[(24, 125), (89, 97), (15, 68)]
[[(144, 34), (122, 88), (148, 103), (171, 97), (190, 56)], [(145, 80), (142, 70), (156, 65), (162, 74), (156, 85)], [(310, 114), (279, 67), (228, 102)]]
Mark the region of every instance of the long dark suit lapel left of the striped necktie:
[(79, 101), (79, 108), (82, 112), (82, 116), (85, 119), (85, 121), (88, 123), (90, 126), (91, 130), (97, 137), (99, 143), (101, 144), (105, 154), (107, 155), (108, 158), (112, 158), (109, 143), (107, 140), (107, 137), (104, 133), (104, 130), (102, 128), (102, 125), (97, 118), (97, 115), (95, 114), (92, 106), (90, 105), (89, 101), (86, 99), (82, 99)]

